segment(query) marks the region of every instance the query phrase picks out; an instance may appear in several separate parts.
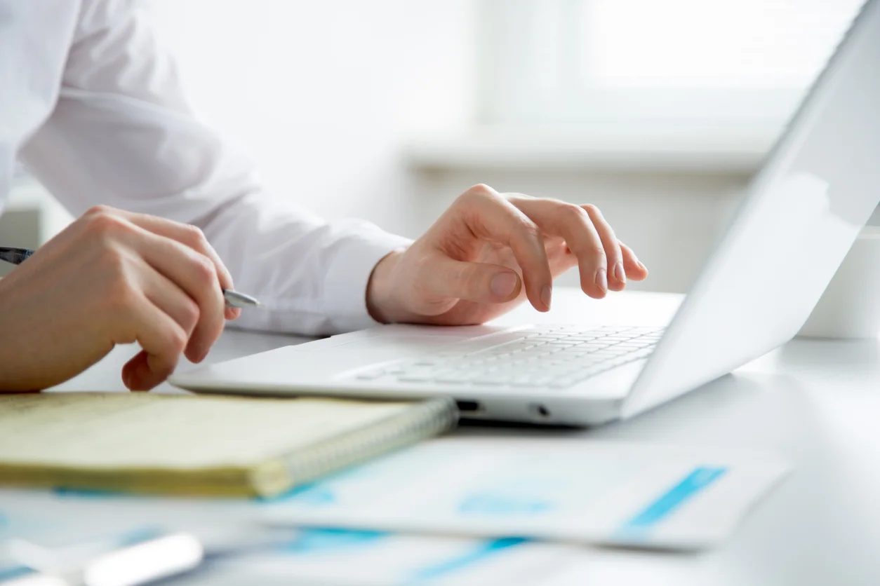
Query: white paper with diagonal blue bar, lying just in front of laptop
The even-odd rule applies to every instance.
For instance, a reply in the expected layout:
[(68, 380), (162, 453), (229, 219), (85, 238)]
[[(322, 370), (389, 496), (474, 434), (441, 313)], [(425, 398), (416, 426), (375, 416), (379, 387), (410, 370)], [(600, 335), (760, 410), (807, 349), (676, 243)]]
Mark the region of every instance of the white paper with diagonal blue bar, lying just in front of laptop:
[(761, 452), (441, 438), (265, 502), (269, 523), (700, 548), (788, 471)]

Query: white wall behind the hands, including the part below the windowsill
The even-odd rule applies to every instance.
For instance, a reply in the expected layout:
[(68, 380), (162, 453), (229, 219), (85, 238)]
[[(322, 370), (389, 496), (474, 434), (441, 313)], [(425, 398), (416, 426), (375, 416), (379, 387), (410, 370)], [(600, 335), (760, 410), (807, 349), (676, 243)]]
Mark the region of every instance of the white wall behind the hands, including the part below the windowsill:
[(328, 217), (360, 216), (415, 236), (478, 182), (590, 201), (648, 264), (646, 288), (682, 291), (744, 181), (407, 167), (407, 139), (473, 122), (473, 0), (148, 5), (202, 117), (253, 154), (279, 197)]

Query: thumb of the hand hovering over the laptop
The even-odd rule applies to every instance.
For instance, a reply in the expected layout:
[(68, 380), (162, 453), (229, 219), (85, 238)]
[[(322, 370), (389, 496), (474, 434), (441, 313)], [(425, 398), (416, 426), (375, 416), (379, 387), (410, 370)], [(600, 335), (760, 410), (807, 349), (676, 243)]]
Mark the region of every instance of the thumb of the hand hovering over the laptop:
[(427, 281), (431, 293), (476, 303), (514, 300), (523, 288), (517, 272), (506, 266), (464, 263), (449, 257), (437, 259)]

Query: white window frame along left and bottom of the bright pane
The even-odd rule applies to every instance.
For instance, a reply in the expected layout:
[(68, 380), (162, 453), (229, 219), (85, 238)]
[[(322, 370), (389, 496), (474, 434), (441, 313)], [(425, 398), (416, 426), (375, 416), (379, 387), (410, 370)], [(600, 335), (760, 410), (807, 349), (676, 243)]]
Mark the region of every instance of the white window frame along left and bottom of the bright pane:
[[(775, 133), (807, 89), (585, 86), (574, 74), (583, 70), (583, 63), (578, 62), (581, 52), (575, 49), (580, 25), (572, 18), (583, 1), (479, 0), (478, 124), (622, 128), (629, 134), (642, 129), (649, 134), (674, 134), (682, 128), (696, 134)], [(558, 42), (544, 43), (544, 54), (530, 54), (529, 47), (540, 44), (524, 41), (523, 31), (548, 34), (536, 32), (541, 27), (534, 23), (541, 18), (556, 18), (549, 28), (558, 35)]]

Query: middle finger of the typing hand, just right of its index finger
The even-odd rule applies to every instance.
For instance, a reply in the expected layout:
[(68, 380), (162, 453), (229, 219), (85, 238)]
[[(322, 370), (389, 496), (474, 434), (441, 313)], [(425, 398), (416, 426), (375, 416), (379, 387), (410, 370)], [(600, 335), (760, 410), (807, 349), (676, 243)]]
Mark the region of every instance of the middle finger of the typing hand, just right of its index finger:
[(561, 235), (577, 258), (581, 289), (593, 299), (608, 290), (605, 246), (586, 210), (555, 199), (513, 198), (512, 203), (550, 235)]

